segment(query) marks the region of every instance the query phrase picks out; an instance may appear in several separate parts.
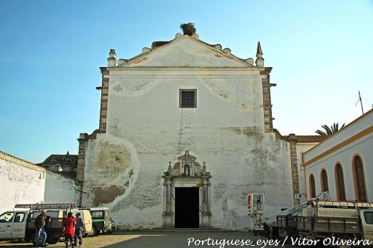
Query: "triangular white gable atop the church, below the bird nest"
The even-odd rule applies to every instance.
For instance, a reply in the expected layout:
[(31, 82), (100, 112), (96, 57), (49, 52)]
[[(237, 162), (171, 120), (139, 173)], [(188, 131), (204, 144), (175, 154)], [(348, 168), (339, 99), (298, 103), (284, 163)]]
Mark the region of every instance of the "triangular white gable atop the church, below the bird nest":
[(119, 67), (253, 67), (221, 50), (220, 45), (210, 46), (190, 36), (181, 36), (169, 43), (146, 51)]

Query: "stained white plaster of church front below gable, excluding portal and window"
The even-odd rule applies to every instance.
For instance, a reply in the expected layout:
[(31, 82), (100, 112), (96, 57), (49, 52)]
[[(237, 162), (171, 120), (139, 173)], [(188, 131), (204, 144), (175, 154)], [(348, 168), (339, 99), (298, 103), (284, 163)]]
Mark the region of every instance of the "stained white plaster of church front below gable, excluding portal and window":
[[(161, 175), (184, 150), (211, 172), (213, 227), (251, 227), (249, 192), (265, 193), (265, 215), (292, 205), (289, 145), (264, 132), (258, 70), (113, 68), (108, 77), (107, 130), (88, 140), (83, 205), (110, 207), (126, 228), (160, 227)], [(197, 108), (179, 108), (180, 89), (197, 89)]]

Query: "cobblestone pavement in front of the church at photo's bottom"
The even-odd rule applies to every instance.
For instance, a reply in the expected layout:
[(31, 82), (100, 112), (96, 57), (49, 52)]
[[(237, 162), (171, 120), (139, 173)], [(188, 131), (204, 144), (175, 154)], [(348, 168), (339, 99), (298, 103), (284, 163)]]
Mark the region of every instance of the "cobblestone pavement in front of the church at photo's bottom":
[[(210, 239), (209, 239), (210, 238)], [(188, 246), (188, 239), (190, 245)], [(163, 247), (219, 247), (220, 245), (212, 245), (212, 242), (220, 242), (223, 244), (225, 241), (235, 240), (236, 245), (221, 246), (221, 248), (230, 247), (263, 247), (264, 244), (257, 245), (258, 240), (260, 242), (268, 242), (267, 239), (262, 237), (255, 237), (253, 234), (248, 232), (168, 232), (168, 231), (138, 231), (138, 232), (114, 232), (113, 234), (101, 235), (98, 237), (87, 237), (83, 239), (83, 247), (95, 248), (95, 247), (149, 247), (149, 248), (163, 248)], [(243, 242), (247, 242), (247, 239), (252, 241), (252, 244), (245, 245)], [(194, 240), (194, 242), (193, 242)], [(203, 241), (205, 243), (203, 244)], [(210, 241), (209, 241), (210, 240)], [(243, 240), (243, 242), (242, 242)], [(208, 245), (210, 242), (210, 245)], [(240, 243), (239, 243), (240, 242)], [(243, 244), (243, 245), (241, 245)], [(247, 243), (248, 244), (248, 243)], [(0, 247), (33, 247), (31, 243), (11, 243), (11, 242), (0, 242)], [(57, 244), (48, 245), (48, 247), (65, 247), (63, 242)], [(266, 245), (265, 247), (292, 247), (289, 244), (282, 246), (282, 243), (275, 245)]]

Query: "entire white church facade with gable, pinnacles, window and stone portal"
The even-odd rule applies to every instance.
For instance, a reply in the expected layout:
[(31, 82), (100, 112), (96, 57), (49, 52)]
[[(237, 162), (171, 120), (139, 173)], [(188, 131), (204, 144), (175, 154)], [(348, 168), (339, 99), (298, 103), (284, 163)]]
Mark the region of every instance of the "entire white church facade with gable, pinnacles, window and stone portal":
[[(81, 203), (128, 229), (247, 229), (246, 196), (265, 214), (293, 205), (290, 145), (272, 127), (272, 68), (176, 34), (101, 67), (99, 128), (81, 133)], [(299, 188), (298, 188), (299, 190)]]

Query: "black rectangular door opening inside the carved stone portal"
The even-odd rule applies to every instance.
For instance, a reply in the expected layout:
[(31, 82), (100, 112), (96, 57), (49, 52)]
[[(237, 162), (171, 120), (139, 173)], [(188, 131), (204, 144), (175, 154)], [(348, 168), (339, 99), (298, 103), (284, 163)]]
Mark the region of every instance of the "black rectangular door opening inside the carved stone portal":
[(200, 227), (199, 214), (198, 187), (175, 187), (175, 227)]

